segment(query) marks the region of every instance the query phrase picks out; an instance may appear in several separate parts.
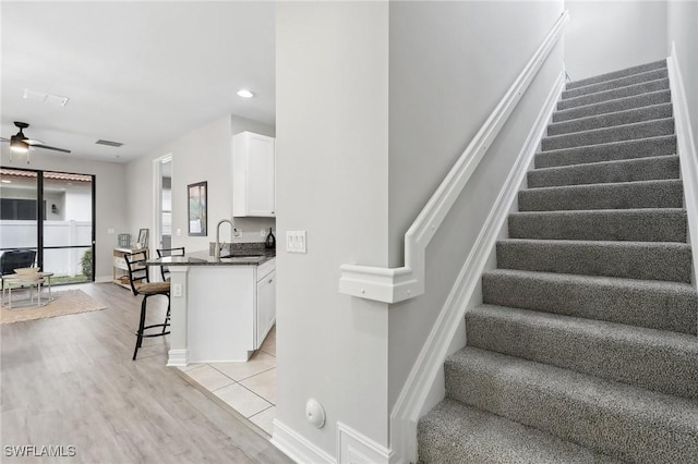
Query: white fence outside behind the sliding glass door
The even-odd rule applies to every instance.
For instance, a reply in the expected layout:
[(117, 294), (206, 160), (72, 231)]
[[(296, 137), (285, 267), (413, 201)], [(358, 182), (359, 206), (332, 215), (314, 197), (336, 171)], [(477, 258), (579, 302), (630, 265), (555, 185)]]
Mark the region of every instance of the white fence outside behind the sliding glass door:
[[(36, 221), (0, 220), (0, 247), (36, 248)], [(82, 274), (80, 260), (92, 249), (92, 222), (44, 221), (44, 246), (84, 246), (44, 251), (44, 269), (56, 276)]]

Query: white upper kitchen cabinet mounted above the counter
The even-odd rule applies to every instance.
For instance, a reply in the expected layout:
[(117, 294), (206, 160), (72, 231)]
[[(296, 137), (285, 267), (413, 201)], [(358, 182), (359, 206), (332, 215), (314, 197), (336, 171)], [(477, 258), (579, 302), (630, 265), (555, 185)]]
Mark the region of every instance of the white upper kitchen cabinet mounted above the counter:
[(252, 132), (232, 136), (232, 216), (276, 216), (274, 142)]

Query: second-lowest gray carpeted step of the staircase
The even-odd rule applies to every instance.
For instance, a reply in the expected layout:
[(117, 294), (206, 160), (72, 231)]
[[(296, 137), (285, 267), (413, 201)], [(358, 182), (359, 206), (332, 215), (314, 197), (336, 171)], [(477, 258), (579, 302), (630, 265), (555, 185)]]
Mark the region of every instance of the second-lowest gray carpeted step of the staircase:
[(446, 359), (446, 395), (631, 462), (698, 462), (698, 403), (466, 347)]

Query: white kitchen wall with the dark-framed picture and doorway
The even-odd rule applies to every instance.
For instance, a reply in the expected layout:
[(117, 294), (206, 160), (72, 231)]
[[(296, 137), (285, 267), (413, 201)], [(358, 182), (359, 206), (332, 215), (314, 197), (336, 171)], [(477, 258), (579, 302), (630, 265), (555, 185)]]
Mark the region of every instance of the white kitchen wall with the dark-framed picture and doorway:
[[(220, 219), (230, 219), (232, 212), (232, 184), (230, 163), (230, 137), (233, 127), (238, 132), (254, 130), (274, 135), (274, 127), (244, 118), (231, 119), (230, 115), (217, 120), (183, 134), (152, 152), (131, 161), (127, 166), (129, 184), (129, 223), (131, 234), (135, 236), (139, 229), (151, 229), (153, 234), (153, 161), (159, 157), (172, 156), (172, 246), (184, 246), (188, 252), (207, 251), (208, 243), (216, 240), (216, 224)], [(206, 181), (208, 183), (207, 235), (189, 236), (186, 185)], [(273, 219), (251, 220), (243, 230), (250, 234), (256, 230), (257, 242), (260, 228), (273, 227)], [(252, 228), (254, 227), (254, 229)], [(177, 230), (181, 235), (177, 234)], [(221, 241), (230, 240), (229, 225), (224, 224), (220, 231)], [(157, 244), (151, 240), (151, 249), (155, 253)]]

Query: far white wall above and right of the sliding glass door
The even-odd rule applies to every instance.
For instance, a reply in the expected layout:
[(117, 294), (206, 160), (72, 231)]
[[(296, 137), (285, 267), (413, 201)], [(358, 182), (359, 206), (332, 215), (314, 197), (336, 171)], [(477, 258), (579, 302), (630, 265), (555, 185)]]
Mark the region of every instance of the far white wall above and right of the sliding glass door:
[[(50, 151), (36, 151), (29, 166), (13, 156), (10, 162), (9, 144), (2, 145), (2, 166), (19, 169), (40, 169), (45, 171), (94, 174), (96, 186), (95, 218), (95, 278), (111, 280), (112, 249), (118, 245), (117, 234), (129, 232), (127, 218), (125, 167), (113, 162), (89, 161), (55, 155)], [(50, 208), (50, 206), (49, 206)], [(115, 233), (108, 233), (113, 229)]]

